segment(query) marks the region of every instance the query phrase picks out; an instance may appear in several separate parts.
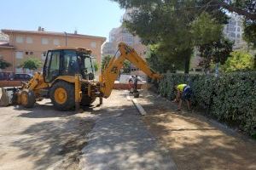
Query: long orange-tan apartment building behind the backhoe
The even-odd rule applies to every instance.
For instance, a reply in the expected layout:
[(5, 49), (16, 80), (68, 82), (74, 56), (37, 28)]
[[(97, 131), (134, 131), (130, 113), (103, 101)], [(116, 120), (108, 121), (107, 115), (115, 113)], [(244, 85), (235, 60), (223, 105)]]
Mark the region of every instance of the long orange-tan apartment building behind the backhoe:
[(0, 45), (0, 57), (12, 64), (4, 71), (14, 72), (24, 72), (19, 66), (29, 57), (38, 58), (44, 63), (47, 50), (56, 47), (90, 49), (100, 65), (102, 44), (106, 41), (105, 37), (82, 35), (77, 31), (74, 33), (44, 31), (41, 27), (38, 31), (2, 30), (2, 32), (9, 36), (9, 42)]

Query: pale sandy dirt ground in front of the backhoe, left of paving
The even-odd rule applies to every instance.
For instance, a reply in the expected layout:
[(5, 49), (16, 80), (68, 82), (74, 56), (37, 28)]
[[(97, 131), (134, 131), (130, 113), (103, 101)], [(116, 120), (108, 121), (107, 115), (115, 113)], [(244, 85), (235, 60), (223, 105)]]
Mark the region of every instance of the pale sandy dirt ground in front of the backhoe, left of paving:
[(0, 169), (78, 169), (91, 111), (55, 111), (49, 99), (32, 109), (0, 107)]

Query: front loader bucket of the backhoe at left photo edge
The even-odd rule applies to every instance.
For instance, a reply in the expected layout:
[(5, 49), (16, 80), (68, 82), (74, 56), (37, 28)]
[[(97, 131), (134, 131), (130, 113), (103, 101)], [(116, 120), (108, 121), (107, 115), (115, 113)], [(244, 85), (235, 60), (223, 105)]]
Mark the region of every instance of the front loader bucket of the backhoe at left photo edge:
[(8, 106), (16, 102), (15, 94), (19, 91), (19, 88), (7, 87), (0, 89), (0, 106)]

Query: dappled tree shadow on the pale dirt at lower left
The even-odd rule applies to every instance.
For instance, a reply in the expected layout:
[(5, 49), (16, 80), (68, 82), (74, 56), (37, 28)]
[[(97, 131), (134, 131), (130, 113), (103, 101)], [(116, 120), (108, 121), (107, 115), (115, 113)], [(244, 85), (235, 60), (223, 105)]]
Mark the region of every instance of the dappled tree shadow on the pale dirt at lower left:
[(38, 122), (20, 133), (24, 138), (15, 140), (12, 145), (23, 150), (19, 159), (30, 157), (35, 160), (36, 169), (46, 169), (63, 156), (72, 159), (69, 162), (76, 161), (86, 144), (84, 136), (90, 132), (93, 124), (92, 120), (75, 116), (58, 121)]

